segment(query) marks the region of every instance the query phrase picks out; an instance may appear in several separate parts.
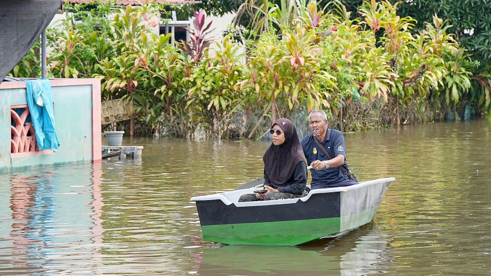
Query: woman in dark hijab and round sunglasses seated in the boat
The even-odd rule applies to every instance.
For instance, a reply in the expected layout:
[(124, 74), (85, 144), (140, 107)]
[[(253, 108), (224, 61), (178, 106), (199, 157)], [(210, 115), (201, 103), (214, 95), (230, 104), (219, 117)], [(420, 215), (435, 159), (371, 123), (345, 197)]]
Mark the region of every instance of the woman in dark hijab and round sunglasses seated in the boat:
[(307, 196), (307, 163), (292, 121), (281, 118), (271, 129), (272, 143), (263, 156), (266, 193), (244, 194), (239, 202)]

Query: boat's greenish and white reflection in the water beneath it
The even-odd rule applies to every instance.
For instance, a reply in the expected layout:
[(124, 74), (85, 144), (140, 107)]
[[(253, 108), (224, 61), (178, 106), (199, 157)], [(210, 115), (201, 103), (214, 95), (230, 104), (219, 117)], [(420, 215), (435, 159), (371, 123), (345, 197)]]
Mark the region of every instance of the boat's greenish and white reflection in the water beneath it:
[(336, 239), (298, 247), (223, 246), (203, 249), (200, 275), (368, 275), (387, 253), (377, 227), (370, 223)]

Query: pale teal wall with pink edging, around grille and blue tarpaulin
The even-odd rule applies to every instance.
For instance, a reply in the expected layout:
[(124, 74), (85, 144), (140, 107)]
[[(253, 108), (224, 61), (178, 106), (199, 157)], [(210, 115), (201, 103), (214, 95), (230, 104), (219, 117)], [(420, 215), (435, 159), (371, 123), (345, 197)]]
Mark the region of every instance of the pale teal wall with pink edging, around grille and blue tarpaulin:
[(0, 89), (0, 171), (92, 160), (92, 85), (54, 86), (51, 92), (58, 152), (10, 157), (10, 106), (27, 104), (25, 88)]

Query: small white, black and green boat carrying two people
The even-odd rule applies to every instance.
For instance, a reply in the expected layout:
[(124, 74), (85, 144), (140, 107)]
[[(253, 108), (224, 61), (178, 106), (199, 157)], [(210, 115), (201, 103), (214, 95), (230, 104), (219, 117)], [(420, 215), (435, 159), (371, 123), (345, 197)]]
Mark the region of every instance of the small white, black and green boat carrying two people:
[(205, 241), (297, 246), (371, 222), (394, 177), (315, 189), (306, 197), (238, 202), (257, 188), (192, 197)]

